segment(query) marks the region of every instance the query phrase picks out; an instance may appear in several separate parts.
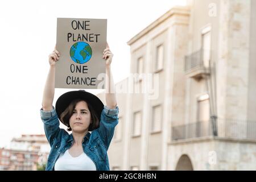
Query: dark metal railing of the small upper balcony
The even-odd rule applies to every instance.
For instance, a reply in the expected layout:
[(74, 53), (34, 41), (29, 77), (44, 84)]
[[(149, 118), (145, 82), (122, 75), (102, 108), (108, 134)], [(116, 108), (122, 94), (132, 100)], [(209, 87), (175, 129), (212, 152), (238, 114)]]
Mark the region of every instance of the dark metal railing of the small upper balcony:
[(209, 50), (204, 50), (203, 48), (201, 48), (199, 49), (199, 51), (193, 52), (191, 55), (185, 56), (185, 72), (193, 68), (205, 67), (205, 63), (203, 59), (204, 51), (209, 51)]

